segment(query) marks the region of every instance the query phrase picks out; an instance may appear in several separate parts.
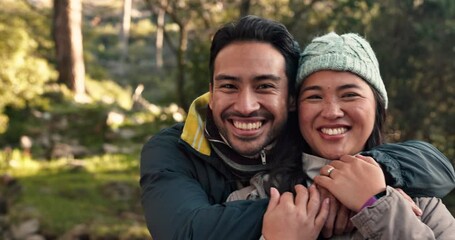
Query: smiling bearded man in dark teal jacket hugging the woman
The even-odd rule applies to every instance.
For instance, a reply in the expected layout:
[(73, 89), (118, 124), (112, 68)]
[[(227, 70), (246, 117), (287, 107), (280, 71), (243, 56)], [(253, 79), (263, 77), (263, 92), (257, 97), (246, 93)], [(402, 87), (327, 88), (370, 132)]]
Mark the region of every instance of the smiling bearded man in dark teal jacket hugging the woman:
[[(154, 239), (259, 239), (268, 200), (226, 198), (289, 150), (277, 138), (294, 110), (299, 52), (286, 28), (271, 20), (247, 16), (218, 30), (210, 93), (193, 102), (184, 125), (162, 130), (142, 151), (142, 204)], [(435, 195), (454, 186), (450, 162), (434, 149), (418, 152), (419, 159), (414, 150), (399, 156), (401, 169), (396, 156), (377, 154), (387, 155), (381, 164), (389, 185)], [(438, 171), (430, 182), (426, 176)], [(426, 184), (414, 185), (416, 178)]]

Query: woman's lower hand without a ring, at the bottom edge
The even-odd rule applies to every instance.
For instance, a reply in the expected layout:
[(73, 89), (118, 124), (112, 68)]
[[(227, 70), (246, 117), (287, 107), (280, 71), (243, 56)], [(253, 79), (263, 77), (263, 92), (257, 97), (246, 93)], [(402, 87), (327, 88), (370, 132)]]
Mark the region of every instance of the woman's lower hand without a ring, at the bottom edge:
[(262, 235), (274, 239), (317, 239), (329, 213), (329, 199), (321, 201), (319, 191), (312, 185), (295, 186), (296, 196), (270, 189), (270, 201), (264, 214)]

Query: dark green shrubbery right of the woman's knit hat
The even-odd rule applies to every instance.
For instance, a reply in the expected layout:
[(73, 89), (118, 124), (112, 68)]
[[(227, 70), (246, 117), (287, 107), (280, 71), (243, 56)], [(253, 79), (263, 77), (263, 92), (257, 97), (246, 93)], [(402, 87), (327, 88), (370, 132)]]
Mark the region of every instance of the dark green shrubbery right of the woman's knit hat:
[(422, 139), (454, 159), (455, 8), (449, 2), (385, 1), (369, 38), (389, 92), (391, 139)]

